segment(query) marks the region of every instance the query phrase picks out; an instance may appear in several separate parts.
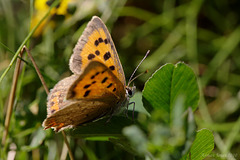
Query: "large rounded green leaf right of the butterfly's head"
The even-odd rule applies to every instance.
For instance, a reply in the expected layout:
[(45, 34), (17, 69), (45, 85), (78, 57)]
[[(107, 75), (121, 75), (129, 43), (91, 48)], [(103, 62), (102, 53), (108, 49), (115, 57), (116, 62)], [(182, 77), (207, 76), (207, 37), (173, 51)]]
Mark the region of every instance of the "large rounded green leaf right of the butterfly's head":
[(158, 69), (146, 82), (143, 90), (143, 104), (148, 111), (160, 109), (171, 113), (176, 99), (183, 96), (184, 110), (196, 110), (199, 89), (193, 70), (183, 62), (166, 64)]

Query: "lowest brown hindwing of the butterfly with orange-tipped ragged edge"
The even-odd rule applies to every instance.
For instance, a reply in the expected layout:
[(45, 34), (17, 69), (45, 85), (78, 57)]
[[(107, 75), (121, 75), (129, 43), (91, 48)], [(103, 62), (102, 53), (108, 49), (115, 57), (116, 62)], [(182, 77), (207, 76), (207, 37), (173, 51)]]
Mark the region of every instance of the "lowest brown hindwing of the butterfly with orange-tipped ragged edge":
[[(108, 101), (70, 101), (63, 109), (53, 113), (43, 122), (44, 129), (54, 128), (56, 132), (91, 122), (113, 112)], [(115, 102), (116, 103), (116, 102)]]

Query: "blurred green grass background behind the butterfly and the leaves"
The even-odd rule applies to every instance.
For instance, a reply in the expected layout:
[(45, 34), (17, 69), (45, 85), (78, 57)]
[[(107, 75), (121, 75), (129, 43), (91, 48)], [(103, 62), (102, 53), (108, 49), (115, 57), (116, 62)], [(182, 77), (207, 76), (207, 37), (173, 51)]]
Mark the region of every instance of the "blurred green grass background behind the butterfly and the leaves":
[[(0, 42), (16, 52), (50, 4), (51, 1), (40, 0), (0, 0)], [(109, 28), (127, 80), (147, 50), (151, 51), (138, 70), (141, 73), (148, 69), (149, 73), (134, 81), (139, 91), (160, 66), (184, 61), (193, 68), (199, 80), (201, 100), (194, 113), (198, 129), (209, 128), (214, 132), (214, 153), (235, 155), (221, 159), (238, 159), (239, 8), (238, 0), (65, 0), (38, 27), (29, 39), (28, 47), (49, 88), (71, 75), (68, 62), (72, 49), (93, 15), (101, 17)], [(13, 56), (1, 45), (1, 75)], [(31, 63), (26, 55), (24, 59)], [(24, 65), (22, 69), (24, 73), (18, 81), (8, 147), (15, 146), (18, 159), (54, 159), (61, 150), (62, 137), (51, 130), (42, 131), (47, 95), (34, 68)], [(13, 72), (14, 66), (0, 83), (1, 133)], [(86, 147), (83, 143), (88, 146), (84, 152), (94, 158), (133, 157), (110, 142), (74, 142), (72, 145), (78, 157), (84, 155), (77, 147), (79, 144)], [(109, 151), (111, 154), (106, 155)], [(48, 154), (51, 152), (52, 155)]]

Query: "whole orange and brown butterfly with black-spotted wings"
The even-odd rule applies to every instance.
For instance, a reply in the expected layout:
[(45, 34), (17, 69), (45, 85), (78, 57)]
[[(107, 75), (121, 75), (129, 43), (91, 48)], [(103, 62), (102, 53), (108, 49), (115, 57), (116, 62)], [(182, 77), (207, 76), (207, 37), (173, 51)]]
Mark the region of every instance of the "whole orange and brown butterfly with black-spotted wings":
[(60, 131), (113, 115), (129, 103), (135, 87), (125, 75), (107, 27), (94, 16), (70, 58), (73, 75), (59, 81), (48, 95), (45, 129)]

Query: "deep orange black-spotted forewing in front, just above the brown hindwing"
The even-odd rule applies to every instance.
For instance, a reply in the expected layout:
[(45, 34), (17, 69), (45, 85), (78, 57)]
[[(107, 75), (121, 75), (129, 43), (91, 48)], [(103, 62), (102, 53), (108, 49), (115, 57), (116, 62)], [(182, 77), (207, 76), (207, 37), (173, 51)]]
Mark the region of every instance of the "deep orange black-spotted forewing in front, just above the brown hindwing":
[(125, 98), (123, 84), (108, 67), (98, 61), (91, 61), (88, 64), (67, 93), (67, 99), (123, 98)]

